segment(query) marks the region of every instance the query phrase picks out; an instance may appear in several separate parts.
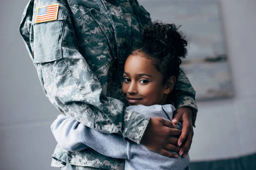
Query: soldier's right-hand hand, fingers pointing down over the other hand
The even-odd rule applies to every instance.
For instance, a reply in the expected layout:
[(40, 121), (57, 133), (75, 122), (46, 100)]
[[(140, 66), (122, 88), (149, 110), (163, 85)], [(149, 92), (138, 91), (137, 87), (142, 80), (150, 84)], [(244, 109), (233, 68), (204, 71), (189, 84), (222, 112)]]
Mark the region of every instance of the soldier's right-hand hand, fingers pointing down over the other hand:
[(193, 125), (192, 125), (193, 111), (190, 107), (181, 107), (177, 109), (177, 112), (172, 119), (172, 122), (177, 125), (181, 122), (182, 129), (181, 135), (178, 139), (178, 145), (181, 147), (179, 154), (185, 157), (189, 153), (189, 149), (192, 144), (192, 138), (194, 136)]

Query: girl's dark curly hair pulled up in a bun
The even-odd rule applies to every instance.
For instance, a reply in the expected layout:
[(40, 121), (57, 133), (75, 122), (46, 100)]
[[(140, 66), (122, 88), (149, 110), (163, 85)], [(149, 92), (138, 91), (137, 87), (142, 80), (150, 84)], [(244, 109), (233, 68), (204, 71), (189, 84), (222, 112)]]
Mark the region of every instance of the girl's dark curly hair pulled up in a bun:
[(171, 77), (179, 76), (180, 58), (187, 54), (187, 41), (180, 27), (175, 24), (154, 22), (144, 28), (141, 42), (135, 45), (130, 55), (138, 53), (151, 59), (158, 71), (163, 75), (163, 83)]

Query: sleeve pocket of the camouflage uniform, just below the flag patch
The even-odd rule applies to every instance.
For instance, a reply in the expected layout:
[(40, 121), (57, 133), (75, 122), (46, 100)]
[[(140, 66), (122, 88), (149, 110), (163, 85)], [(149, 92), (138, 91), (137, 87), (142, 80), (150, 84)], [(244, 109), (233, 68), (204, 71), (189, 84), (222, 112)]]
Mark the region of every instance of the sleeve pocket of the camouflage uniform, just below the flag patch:
[(34, 63), (45, 63), (62, 58), (61, 42), (67, 11), (58, 12), (58, 20), (34, 23)]

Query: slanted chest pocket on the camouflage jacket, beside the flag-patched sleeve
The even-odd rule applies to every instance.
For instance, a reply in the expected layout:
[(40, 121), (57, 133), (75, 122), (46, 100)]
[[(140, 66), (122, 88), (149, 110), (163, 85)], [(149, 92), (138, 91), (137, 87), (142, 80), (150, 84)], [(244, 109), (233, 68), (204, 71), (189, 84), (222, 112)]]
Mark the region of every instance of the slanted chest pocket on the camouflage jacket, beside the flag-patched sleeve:
[[(73, 7), (77, 8), (77, 6)], [(79, 6), (79, 10), (86, 11), (87, 9)], [(79, 52), (86, 59), (92, 71), (96, 71), (110, 62), (112, 56), (116, 56), (115, 35), (111, 21), (95, 9), (76, 15), (74, 31), (76, 35), (79, 35), (76, 37)]]

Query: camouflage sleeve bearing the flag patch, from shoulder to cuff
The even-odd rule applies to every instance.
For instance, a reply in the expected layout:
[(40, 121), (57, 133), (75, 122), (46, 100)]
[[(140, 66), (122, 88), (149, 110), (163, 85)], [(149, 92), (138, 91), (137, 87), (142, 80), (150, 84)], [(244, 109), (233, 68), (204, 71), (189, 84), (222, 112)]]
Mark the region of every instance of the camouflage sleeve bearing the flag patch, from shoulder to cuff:
[[(52, 0), (51, 3), (59, 2)], [(124, 103), (102, 95), (101, 84), (77, 50), (67, 8), (59, 4), (57, 20), (33, 23), (33, 6), (37, 6), (33, 0), (26, 6), (20, 34), (50, 102), (88, 127), (103, 133), (119, 133), (140, 143), (149, 118), (126, 111)]]

